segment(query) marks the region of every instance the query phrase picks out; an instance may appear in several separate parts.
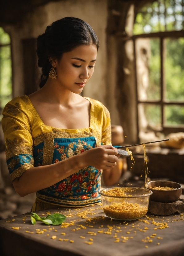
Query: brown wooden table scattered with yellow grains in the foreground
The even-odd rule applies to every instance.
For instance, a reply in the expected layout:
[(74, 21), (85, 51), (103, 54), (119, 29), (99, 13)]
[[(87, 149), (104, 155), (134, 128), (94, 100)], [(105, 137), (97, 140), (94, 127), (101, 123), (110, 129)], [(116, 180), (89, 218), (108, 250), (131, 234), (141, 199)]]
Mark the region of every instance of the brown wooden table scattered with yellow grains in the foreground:
[[(84, 211), (87, 212), (86, 218)], [(61, 228), (61, 225), (48, 227), (41, 222), (32, 225), (30, 213), (0, 220), (2, 249), (0, 255), (183, 255), (184, 215), (156, 217), (147, 214), (147, 217), (144, 216), (141, 221), (123, 222), (107, 218), (100, 205), (80, 209), (40, 210), (36, 213), (46, 216), (47, 212), (65, 214), (68, 216), (65, 223), (74, 223), (74, 225), (66, 228)], [(79, 213), (84, 218), (77, 216)], [(12, 219), (15, 220), (10, 221)], [(167, 223), (169, 227), (160, 229), (160, 226), (152, 223), (153, 221)], [(19, 229), (12, 227), (19, 227)], [(47, 231), (37, 234), (36, 229), (47, 229)], [(154, 233), (156, 236), (150, 237)], [(52, 236), (56, 236), (56, 239), (52, 239)], [(149, 238), (146, 239), (148, 236)], [(163, 239), (157, 239), (157, 237)], [(59, 241), (59, 238), (69, 240)], [(119, 242), (115, 242), (118, 241), (116, 238), (119, 238)], [(91, 242), (89, 239), (93, 239), (93, 244), (85, 243)]]

